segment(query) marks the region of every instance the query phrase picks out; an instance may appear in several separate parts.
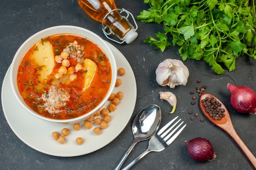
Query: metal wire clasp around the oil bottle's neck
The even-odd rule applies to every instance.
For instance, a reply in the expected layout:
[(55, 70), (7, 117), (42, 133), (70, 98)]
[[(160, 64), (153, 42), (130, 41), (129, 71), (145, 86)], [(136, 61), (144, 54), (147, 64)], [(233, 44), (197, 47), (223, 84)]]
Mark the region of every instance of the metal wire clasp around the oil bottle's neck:
[(106, 26), (106, 25), (104, 24), (104, 20), (107, 18), (107, 16), (108, 16), (110, 13), (112, 13), (113, 11), (115, 11), (115, 10), (120, 11), (120, 12), (119, 12), (120, 14), (122, 14), (123, 12), (125, 12), (125, 13), (126, 13), (126, 16), (124, 16), (124, 17), (125, 17), (126, 19), (128, 19), (129, 16), (132, 17), (132, 20), (133, 20), (133, 22), (134, 22), (134, 24), (135, 24), (135, 29), (134, 29), (134, 31), (136, 31), (136, 30), (138, 29), (138, 25), (137, 25), (137, 23), (136, 23), (136, 21), (135, 21), (135, 18), (134, 18), (133, 15), (132, 15), (132, 13), (130, 13), (129, 11), (127, 11), (127, 10), (124, 9), (124, 8), (122, 8), (122, 9), (113, 9), (112, 11), (110, 11), (109, 13), (107, 13), (107, 14), (105, 15), (105, 17), (103, 18), (102, 23), (101, 23), (103, 33), (106, 35), (106, 37), (107, 37), (109, 40), (112, 40), (112, 41), (114, 41), (114, 42), (117, 42), (118, 44), (123, 44), (125, 41), (121, 41), (121, 40), (120, 40), (120, 41), (117, 41), (117, 40), (114, 40), (114, 39), (112, 39), (112, 38), (109, 37), (109, 35), (115, 35), (115, 34), (112, 33), (111, 31), (107, 32), (106, 30), (108, 29), (108, 26)]

